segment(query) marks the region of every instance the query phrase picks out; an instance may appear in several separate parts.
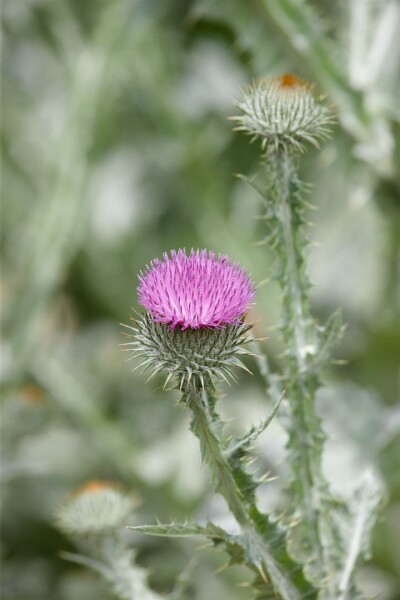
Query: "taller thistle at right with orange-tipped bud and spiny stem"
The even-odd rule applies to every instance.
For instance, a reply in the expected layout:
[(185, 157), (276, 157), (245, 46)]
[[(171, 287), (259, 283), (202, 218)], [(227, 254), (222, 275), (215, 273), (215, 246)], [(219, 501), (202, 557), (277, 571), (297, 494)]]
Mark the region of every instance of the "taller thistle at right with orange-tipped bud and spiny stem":
[[(288, 495), (293, 506), (288, 548), (304, 564), (307, 579), (319, 590), (318, 598), (361, 598), (353, 577), (343, 583), (349, 537), (343, 537), (339, 523), (352, 509), (329, 491), (322, 470), (325, 434), (315, 407), (321, 371), (331, 361), (332, 348), (344, 328), (340, 311), (324, 325), (311, 314), (304, 256), (306, 188), (298, 177), (299, 155), (308, 144), (318, 148), (327, 136), (332, 108), (313, 86), (289, 74), (255, 82), (237, 106), (241, 111), (234, 117), (237, 129), (261, 141), (261, 184), (256, 178), (244, 180), (263, 200), (265, 242), (275, 251), (276, 278), (282, 290), (280, 328), (286, 346), (282, 383), (290, 407), (284, 425), (289, 434)], [(364, 490), (372, 498), (367, 530), (379, 504), (377, 489), (375, 482)], [(361, 547), (358, 551), (363, 552)]]

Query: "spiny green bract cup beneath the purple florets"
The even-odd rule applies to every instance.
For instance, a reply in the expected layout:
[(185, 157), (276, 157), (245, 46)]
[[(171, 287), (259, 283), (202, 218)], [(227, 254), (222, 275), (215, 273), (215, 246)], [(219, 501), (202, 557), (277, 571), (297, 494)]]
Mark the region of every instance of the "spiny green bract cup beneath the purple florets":
[(133, 318), (132, 341), (124, 344), (125, 350), (133, 352), (141, 362), (136, 368), (150, 372), (150, 378), (166, 371), (165, 386), (172, 376), (184, 388), (193, 377), (204, 385), (205, 380), (235, 380), (232, 368), (246, 369), (237, 355), (251, 354), (243, 347), (250, 341), (251, 325), (225, 325), (221, 328), (171, 329), (163, 323), (155, 323), (145, 313)]

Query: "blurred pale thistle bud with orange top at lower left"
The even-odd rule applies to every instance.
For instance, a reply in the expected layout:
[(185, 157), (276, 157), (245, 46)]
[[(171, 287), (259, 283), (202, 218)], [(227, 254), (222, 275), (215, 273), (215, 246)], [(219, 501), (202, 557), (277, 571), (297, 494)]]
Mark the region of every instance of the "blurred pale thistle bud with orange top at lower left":
[(118, 485), (90, 481), (63, 502), (56, 522), (68, 535), (96, 536), (124, 525), (136, 505), (135, 498), (118, 489)]

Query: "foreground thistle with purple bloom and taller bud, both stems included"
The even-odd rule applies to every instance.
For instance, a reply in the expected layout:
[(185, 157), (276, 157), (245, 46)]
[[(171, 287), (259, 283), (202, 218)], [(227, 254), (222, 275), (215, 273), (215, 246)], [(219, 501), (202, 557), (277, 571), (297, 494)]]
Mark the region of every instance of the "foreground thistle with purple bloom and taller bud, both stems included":
[[(139, 302), (145, 312), (128, 327), (125, 350), (140, 358), (138, 368), (150, 371), (149, 378), (165, 371), (165, 385), (176, 383), (214, 488), (225, 498), (238, 531), (225, 531), (211, 522), (133, 529), (153, 535), (202, 535), (224, 545), (231, 563), (245, 564), (255, 572), (254, 592), (260, 599), (355, 600), (363, 596), (354, 573), (368, 553), (381, 492), (370, 474), (368, 487), (358, 486), (346, 504), (331, 495), (323, 474), (325, 435), (315, 396), (343, 325), (339, 312), (324, 325), (311, 314), (304, 258), (305, 186), (298, 177), (299, 156), (307, 145), (318, 147), (328, 135), (332, 108), (293, 75), (257, 81), (243, 92), (237, 106), (241, 111), (233, 118), (237, 129), (261, 142), (261, 182), (244, 180), (263, 200), (266, 242), (276, 253), (286, 346), (281, 394), (259, 427), (241, 438), (224, 435), (217, 386), (221, 379), (235, 378), (235, 367), (246, 368), (239, 356), (251, 354), (251, 326), (245, 315), (255, 286), (238, 264), (205, 250), (189, 255), (179, 250), (153, 261), (139, 276)], [(269, 378), (266, 364), (263, 374), (271, 396), (276, 396), (277, 376)], [(278, 519), (259, 511), (256, 489), (261, 482), (248, 472), (246, 461), (252, 458), (251, 443), (278, 412), (283, 394), (289, 407), (284, 426), (291, 475), (286, 514)], [(358, 512), (361, 523), (355, 519)]]

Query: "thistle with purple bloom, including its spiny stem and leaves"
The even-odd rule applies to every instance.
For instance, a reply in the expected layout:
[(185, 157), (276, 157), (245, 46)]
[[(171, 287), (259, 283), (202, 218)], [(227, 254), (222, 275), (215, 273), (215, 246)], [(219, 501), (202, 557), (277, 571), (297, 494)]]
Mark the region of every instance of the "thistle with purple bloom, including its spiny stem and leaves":
[(258, 510), (255, 490), (260, 482), (244, 466), (251, 458), (251, 442), (271, 416), (242, 438), (227, 439), (217, 412), (218, 381), (234, 378), (234, 367), (246, 368), (239, 356), (251, 353), (246, 348), (251, 326), (244, 317), (254, 284), (237, 263), (206, 250), (192, 250), (189, 256), (183, 250), (172, 252), (171, 257), (165, 254), (139, 280), (139, 300), (146, 312), (134, 318), (128, 334), (132, 339), (125, 349), (142, 359), (138, 366), (150, 370), (150, 377), (164, 370), (166, 383), (175, 378), (181, 402), (191, 413), (191, 429), (199, 439), (202, 459), (239, 533), (211, 522), (134, 529), (155, 535), (202, 535), (224, 544), (232, 562), (246, 564), (256, 573), (259, 598), (275, 593), (285, 600), (312, 597), (312, 586), (286, 551), (281, 525)]

